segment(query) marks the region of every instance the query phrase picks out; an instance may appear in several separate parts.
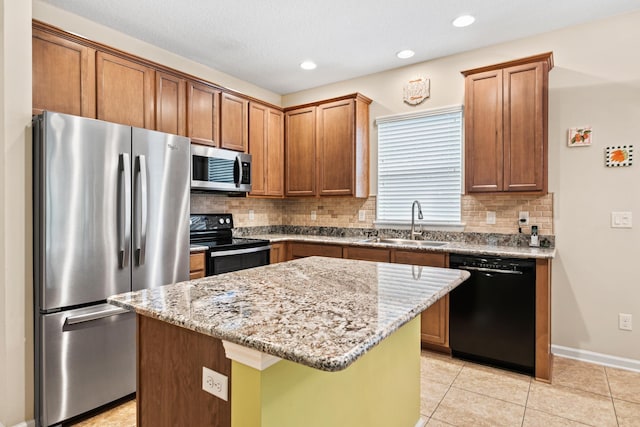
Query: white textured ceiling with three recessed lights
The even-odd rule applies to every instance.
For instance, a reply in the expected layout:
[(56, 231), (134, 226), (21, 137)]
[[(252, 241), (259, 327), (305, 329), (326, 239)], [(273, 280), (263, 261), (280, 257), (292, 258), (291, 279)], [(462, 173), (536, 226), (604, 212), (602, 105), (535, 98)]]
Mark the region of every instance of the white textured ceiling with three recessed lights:
[[(282, 95), (640, 10), (640, 0), (44, 1)], [(475, 24), (453, 27), (463, 14)], [(400, 60), (402, 49), (416, 55)], [(318, 68), (301, 70), (307, 59)]]

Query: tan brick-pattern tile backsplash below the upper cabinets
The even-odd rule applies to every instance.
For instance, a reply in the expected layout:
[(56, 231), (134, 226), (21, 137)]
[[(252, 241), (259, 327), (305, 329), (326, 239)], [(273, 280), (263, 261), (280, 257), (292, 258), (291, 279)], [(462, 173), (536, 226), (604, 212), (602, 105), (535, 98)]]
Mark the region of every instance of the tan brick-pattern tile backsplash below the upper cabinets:
[[(250, 218), (253, 211), (253, 218)], [(315, 220), (311, 212), (315, 212)], [(364, 211), (364, 221), (359, 212)], [(496, 213), (496, 223), (486, 223), (487, 211)], [(529, 212), (529, 224), (537, 225), (541, 235), (553, 234), (553, 194), (526, 195), (463, 195), (462, 222), (465, 232), (518, 233), (518, 213)], [(290, 199), (259, 199), (230, 197), (207, 193), (191, 195), (192, 213), (232, 213), (236, 227), (291, 225), (306, 227), (373, 228), (376, 197), (308, 197)], [(530, 227), (522, 227), (530, 233)]]

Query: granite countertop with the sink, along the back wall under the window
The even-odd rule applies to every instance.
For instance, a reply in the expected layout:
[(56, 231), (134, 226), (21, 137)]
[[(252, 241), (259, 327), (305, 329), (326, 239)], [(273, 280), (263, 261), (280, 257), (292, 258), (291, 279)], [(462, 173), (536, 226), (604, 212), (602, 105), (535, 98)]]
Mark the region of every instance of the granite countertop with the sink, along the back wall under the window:
[(256, 239), (266, 239), (272, 243), (276, 242), (306, 242), (306, 243), (324, 243), (336, 245), (365, 246), (371, 248), (395, 248), (395, 249), (411, 249), (414, 251), (428, 252), (447, 252), (455, 254), (467, 255), (494, 255), (514, 258), (542, 258), (551, 259), (556, 255), (555, 248), (532, 248), (528, 246), (498, 246), (471, 244), (465, 242), (449, 242), (443, 246), (426, 246), (420, 247), (411, 244), (396, 243), (374, 243), (368, 242), (366, 237), (334, 237), (334, 236), (317, 236), (306, 234), (261, 234), (252, 235), (250, 237)]

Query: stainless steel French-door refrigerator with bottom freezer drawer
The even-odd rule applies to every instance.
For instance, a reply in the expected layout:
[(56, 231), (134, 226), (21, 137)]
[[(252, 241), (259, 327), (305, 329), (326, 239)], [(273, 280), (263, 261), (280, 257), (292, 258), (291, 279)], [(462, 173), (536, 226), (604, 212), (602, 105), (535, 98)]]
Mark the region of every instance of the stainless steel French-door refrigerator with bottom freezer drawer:
[(113, 294), (189, 278), (189, 139), (33, 120), (36, 424), (136, 389), (135, 316)]

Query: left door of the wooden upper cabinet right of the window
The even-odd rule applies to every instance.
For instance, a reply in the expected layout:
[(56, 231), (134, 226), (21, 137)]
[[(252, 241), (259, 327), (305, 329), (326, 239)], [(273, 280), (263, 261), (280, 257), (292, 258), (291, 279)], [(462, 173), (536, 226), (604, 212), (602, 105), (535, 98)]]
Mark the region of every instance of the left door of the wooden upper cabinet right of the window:
[(502, 70), (465, 79), (467, 192), (502, 191)]

